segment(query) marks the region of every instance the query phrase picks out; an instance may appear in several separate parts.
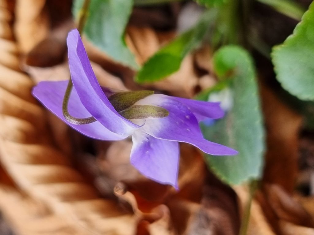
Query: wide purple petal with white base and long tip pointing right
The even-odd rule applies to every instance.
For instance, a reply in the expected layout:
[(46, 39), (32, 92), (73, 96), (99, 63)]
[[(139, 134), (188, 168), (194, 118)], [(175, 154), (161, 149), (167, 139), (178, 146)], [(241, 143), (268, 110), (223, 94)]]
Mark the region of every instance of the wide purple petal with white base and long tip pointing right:
[(234, 149), (205, 140), (191, 110), (172, 97), (156, 94), (136, 104), (157, 105), (169, 111), (165, 118), (146, 119), (143, 131), (155, 138), (186, 142), (212, 155), (237, 154)]

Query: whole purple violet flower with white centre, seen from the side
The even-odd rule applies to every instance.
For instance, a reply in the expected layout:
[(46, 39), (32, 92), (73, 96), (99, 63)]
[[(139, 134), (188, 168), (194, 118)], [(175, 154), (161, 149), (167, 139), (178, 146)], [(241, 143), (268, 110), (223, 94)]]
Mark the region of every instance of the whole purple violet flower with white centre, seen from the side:
[[(68, 34), (67, 44), (74, 86), (68, 104), (69, 113), (77, 118), (93, 116), (97, 121), (76, 125), (64, 118), (62, 100), (68, 81), (40, 82), (34, 87), (33, 95), (65, 123), (86, 136), (100, 140), (122, 140), (132, 135), (130, 161), (149, 179), (178, 188), (178, 142), (192, 144), (207, 154), (237, 154), (237, 151), (224, 145), (205, 140), (199, 128), (198, 122), (224, 115), (218, 102), (195, 101), (151, 92), (129, 105), (127, 110), (120, 111), (109, 101), (112, 96), (112, 92), (108, 92), (110, 88), (99, 85), (78, 30), (74, 29)], [(135, 115), (138, 114), (137, 108), (141, 107), (149, 107), (148, 110), (157, 114), (127, 119), (128, 115), (134, 116), (133, 107)]]

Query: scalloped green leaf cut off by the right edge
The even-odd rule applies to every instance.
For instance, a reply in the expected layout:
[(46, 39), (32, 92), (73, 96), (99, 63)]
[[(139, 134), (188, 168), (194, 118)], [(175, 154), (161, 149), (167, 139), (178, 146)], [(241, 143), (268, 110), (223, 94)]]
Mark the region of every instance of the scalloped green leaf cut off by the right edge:
[(282, 87), (302, 100), (314, 100), (314, 3), (283, 44), (275, 46), (272, 60)]

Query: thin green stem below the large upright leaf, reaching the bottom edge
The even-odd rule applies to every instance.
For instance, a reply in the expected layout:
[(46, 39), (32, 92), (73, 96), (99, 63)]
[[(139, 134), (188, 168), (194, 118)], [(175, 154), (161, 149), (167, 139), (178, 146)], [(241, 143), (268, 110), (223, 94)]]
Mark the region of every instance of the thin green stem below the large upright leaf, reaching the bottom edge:
[(255, 193), (257, 188), (258, 188), (258, 181), (257, 180), (251, 180), (249, 183), (249, 198), (248, 198), (248, 201), (246, 202), (246, 207), (245, 207), (245, 210), (243, 212), (243, 217), (242, 217), (242, 221), (241, 221), (241, 227), (240, 227), (239, 235), (246, 235), (247, 234), (247, 228), (249, 225), (250, 214), (251, 214), (252, 200), (253, 200), (254, 193)]

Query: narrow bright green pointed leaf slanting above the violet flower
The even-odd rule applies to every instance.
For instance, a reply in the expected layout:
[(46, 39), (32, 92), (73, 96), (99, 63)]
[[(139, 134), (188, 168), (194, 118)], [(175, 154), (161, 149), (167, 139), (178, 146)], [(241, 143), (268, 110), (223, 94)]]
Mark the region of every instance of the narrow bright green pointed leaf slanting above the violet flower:
[(138, 71), (135, 81), (139, 83), (159, 81), (176, 72), (184, 56), (201, 44), (215, 15), (214, 10), (204, 13), (193, 29), (181, 34), (156, 52)]

